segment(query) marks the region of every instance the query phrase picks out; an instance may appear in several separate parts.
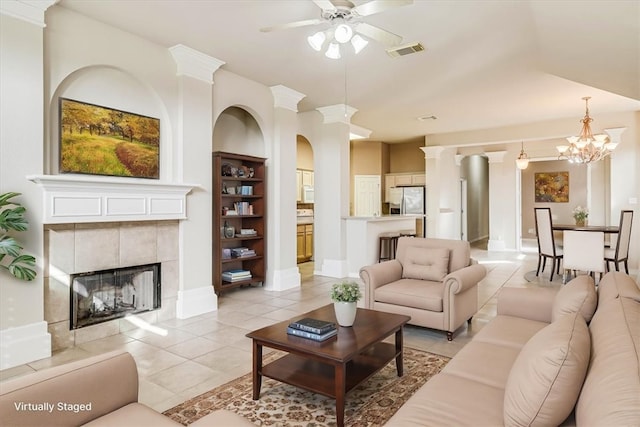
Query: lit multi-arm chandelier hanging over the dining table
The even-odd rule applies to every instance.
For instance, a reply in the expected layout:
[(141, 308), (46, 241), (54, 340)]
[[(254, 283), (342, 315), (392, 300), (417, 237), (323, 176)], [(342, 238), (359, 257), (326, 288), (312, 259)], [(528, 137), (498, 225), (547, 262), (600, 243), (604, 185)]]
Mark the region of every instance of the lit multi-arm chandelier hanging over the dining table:
[(594, 135), (591, 132), (591, 122), (589, 117), (590, 96), (582, 98), (586, 105), (584, 118), (580, 120), (582, 130), (580, 136), (570, 136), (567, 138), (569, 145), (558, 145), (556, 149), (560, 153), (558, 160), (569, 160), (570, 163), (591, 163), (597, 162), (607, 157), (618, 146), (617, 142), (611, 142), (605, 134)]

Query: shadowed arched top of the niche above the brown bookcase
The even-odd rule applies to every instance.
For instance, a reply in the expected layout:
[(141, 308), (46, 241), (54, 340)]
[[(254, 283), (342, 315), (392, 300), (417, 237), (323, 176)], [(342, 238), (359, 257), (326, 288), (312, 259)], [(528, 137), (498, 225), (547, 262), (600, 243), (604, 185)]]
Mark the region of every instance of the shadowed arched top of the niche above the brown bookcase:
[(243, 107), (226, 108), (213, 126), (213, 151), (267, 157), (264, 134), (252, 113)]

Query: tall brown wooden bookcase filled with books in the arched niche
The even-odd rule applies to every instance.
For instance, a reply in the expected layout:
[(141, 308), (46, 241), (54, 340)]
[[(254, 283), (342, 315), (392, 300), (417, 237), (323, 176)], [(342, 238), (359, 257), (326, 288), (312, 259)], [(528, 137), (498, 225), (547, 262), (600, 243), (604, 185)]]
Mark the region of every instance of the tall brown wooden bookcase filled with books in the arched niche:
[(213, 287), (263, 284), (266, 268), (265, 159), (213, 153)]

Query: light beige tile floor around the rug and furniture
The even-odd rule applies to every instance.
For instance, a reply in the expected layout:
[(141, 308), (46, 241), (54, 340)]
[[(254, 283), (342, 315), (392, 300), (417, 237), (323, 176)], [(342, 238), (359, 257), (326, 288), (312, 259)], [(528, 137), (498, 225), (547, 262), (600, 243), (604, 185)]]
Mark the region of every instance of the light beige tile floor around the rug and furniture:
[[(451, 342), (442, 332), (408, 326), (405, 329), (406, 346), (453, 356), (495, 316), (495, 297), (501, 287), (558, 285), (550, 284), (544, 278), (532, 282), (525, 279), (525, 273), (536, 268), (535, 251), (488, 252), (483, 245), (475, 245), (472, 256), (485, 265), (488, 274), (479, 284), (480, 310), (471, 325), (457, 331)], [(138, 365), (139, 400), (157, 411), (164, 411), (250, 372), (251, 340), (245, 337), (246, 333), (330, 303), (329, 288), (337, 280), (314, 276), (313, 263), (299, 267), (303, 278), (299, 289), (284, 292), (266, 291), (262, 287), (231, 290), (219, 299), (219, 309), (215, 312), (165, 321), (154, 325), (157, 330), (153, 331), (132, 329), (90, 341), (49, 358), (0, 371), (0, 381), (123, 349), (133, 355)], [(548, 272), (545, 276), (548, 277)]]

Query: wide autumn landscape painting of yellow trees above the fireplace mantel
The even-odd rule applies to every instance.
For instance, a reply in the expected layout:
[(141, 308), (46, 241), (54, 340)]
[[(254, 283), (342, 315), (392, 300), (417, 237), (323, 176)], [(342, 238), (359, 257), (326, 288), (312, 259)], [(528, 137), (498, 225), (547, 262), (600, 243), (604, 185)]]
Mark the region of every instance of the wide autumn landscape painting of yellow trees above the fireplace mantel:
[(158, 179), (160, 120), (60, 98), (60, 172)]

